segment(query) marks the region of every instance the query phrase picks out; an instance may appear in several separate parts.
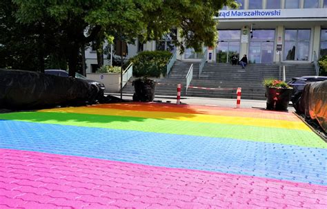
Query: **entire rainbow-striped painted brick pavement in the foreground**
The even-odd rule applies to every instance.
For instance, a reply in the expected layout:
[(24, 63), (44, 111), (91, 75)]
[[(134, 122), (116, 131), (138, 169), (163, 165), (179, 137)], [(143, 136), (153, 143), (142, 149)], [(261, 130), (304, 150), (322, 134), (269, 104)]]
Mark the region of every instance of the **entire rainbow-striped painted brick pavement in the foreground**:
[(0, 114), (0, 208), (327, 208), (293, 113), (101, 104)]

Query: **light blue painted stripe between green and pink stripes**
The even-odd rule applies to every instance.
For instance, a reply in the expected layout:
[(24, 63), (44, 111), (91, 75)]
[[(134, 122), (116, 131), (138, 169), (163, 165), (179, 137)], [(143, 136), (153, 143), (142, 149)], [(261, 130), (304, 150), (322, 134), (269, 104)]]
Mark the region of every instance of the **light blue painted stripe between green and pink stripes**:
[(327, 185), (326, 149), (141, 131), (0, 121), (0, 148)]

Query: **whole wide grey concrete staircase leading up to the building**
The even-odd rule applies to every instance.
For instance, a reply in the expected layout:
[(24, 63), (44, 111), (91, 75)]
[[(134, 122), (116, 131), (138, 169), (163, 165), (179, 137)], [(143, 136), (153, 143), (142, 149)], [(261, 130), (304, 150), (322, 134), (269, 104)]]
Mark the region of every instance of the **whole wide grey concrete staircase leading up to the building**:
[[(176, 96), (177, 84), (181, 84), (181, 95), (186, 96), (186, 74), (190, 68), (190, 62), (177, 61), (172, 67), (168, 78), (156, 79), (157, 96)], [(265, 88), (262, 85), (264, 78), (279, 78), (279, 65), (274, 64), (249, 64), (245, 69), (239, 65), (227, 63), (206, 63), (203, 72), (199, 76), (199, 63), (193, 63), (193, 79), (190, 85), (194, 87), (222, 88), (232, 90), (207, 90), (188, 89), (187, 96), (208, 98), (236, 98), (234, 88), (242, 88), (242, 99), (265, 100)], [(299, 76), (315, 75), (312, 64), (285, 65), (286, 81)], [(282, 70), (282, 69), (281, 69)], [(282, 71), (281, 71), (282, 73)], [(282, 75), (281, 75), (282, 76)], [(134, 80), (132, 78), (131, 80)], [(130, 81), (131, 81), (130, 80)], [(123, 89), (123, 94), (134, 94), (134, 87), (128, 83)]]

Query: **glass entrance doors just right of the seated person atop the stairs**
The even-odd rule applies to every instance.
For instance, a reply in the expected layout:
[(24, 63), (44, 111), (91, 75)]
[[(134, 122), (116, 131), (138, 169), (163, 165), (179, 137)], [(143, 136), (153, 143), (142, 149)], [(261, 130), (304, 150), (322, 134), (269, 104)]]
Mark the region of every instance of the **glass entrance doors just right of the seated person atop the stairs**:
[(249, 63), (273, 63), (274, 42), (250, 42)]

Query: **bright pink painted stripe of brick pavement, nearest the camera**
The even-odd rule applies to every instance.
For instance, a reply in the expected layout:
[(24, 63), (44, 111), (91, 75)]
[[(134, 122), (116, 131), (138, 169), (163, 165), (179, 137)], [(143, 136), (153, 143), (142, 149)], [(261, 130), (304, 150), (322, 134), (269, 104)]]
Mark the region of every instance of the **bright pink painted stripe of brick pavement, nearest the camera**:
[(0, 149), (0, 208), (327, 208), (327, 187)]

